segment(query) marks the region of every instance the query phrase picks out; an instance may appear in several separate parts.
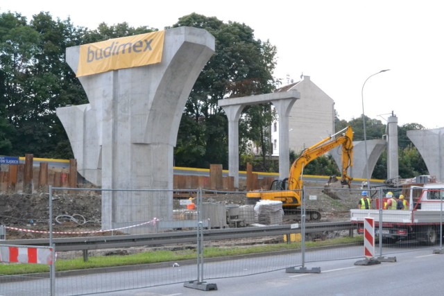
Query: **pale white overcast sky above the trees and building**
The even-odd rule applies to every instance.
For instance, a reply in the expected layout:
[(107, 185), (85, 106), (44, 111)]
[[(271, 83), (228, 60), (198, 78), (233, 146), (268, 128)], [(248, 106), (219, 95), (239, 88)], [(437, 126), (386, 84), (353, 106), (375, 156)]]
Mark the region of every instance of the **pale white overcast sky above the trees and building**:
[[(192, 12), (225, 23), (237, 21), (250, 26), (256, 39), (276, 46), (275, 78), (287, 85), (299, 81), (302, 73), (310, 76), (334, 100), (339, 119), (349, 121), (364, 110), (384, 124), (394, 114), (398, 125), (444, 127), (444, 3), (440, 0), (127, 3), (2, 0), (0, 12), (19, 12), (29, 21), (44, 11), (53, 19), (69, 17), (74, 26), (89, 29), (101, 22), (112, 26), (126, 21), (129, 26), (162, 30)], [(378, 73), (385, 69), (390, 71)]]

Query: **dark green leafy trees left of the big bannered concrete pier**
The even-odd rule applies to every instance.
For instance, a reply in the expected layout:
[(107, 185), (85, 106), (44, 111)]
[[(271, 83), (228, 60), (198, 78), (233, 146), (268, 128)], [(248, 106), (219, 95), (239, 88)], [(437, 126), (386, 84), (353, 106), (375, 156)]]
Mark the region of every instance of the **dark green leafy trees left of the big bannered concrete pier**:
[[(56, 107), (85, 99), (65, 62), (65, 49), (80, 40), (78, 32), (69, 20), (53, 21), (44, 12), (30, 24), (19, 14), (3, 13), (0, 30), (2, 116), (15, 128), (10, 153), (72, 157)], [(69, 150), (59, 154), (56, 147), (63, 142)]]

